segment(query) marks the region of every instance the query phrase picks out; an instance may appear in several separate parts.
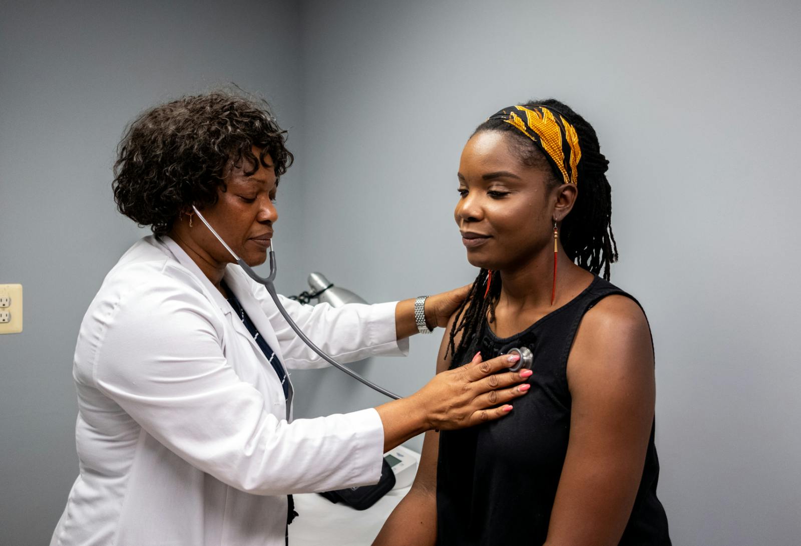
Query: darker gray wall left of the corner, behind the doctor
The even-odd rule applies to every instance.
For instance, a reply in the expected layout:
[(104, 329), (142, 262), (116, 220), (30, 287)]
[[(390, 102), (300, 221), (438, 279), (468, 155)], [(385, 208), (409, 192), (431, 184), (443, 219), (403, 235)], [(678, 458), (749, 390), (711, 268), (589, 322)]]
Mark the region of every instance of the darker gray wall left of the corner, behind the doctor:
[[(3, 2), (0, 12), (0, 283), (22, 283), (25, 301), (22, 334), (0, 336), (0, 544), (20, 546), (49, 542), (78, 475), (78, 325), (108, 269), (147, 233), (111, 196), (123, 127), (155, 103), (233, 82), (268, 97), (292, 129), (301, 114), (300, 10), (296, 2)], [(299, 172), (280, 190), (289, 233), (300, 224)], [(296, 267), (291, 252), (281, 259)]]

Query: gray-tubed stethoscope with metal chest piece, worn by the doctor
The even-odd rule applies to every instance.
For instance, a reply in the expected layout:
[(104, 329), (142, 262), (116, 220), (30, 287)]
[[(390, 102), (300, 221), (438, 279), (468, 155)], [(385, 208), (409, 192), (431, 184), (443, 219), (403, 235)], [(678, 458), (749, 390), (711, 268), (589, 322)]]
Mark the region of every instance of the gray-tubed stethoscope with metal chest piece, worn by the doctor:
[[(279, 313), (281, 313), (281, 316), (284, 317), (284, 319), (287, 321), (288, 325), (292, 328), (292, 330), (295, 330), (295, 333), (298, 334), (298, 337), (301, 340), (303, 340), (303, 342), (310, 349), (312, 349), (316, 354), (319, 354), (320, 358), (323, 358), (326, 362), (330, 363), (332, 366), (344, 371), (344, 373), (348, 374), (357, 381), (364, 383), (364, 385), (370, 387), (371, 389), (377, 390), (378, 392), (384, 394), (385, 396), (388, 396), (389, 398), (394, 398), (395, 400), (400, 399), (400, 396), (398, 396), (397, 394), (392, 393), (391, 391), (376, 385), (372, 381), (369, 381), (368, 379), (361, 377), (359, 374), (356, 374), (356, 372), (351, 370), (350, 368), (341, 365), (339, 362), (336, 362), (336, 360), (328, 356), (328, 354), (326, 354), (324, 350), (316, 346), (311, 339), (307, 338), (306, 334), (303, 333), (303, 330), (300, 330), (300, 326), (297, 326), (295, 324), (295, 321), (293, 321), (292, 317), (289, 316), (287, 309), (284, 309), (284, 305), (281, 305), (280, 298), (278, 297), (278, 293), (276, 292), (276, 286), (273, 284), (273, 281), (276, 280), (277, 268), (276, 268), (275, 245), (273, 244), (272, 240), (270, 241), (270, 274), (267, 277), (261, 277), (258, 273), (256, 273), (256, 271), (253, 271), (253, 269), (251, 269), (250, 265), (246, 264), (242, 258), (237, 256), (236, 253), (233, 250), (231, 250), (231, 247), (228, 246), (225, 243), (225, 241), (223, 241), (223, 237), (219, 237), (217, 232), (215, 232), (214, 228), (211, 227), (211, 224), (209, 224), (206, 221), (206, 219), (203, 218), (203, 215), (200, 214), (200, 211), (197, 209), (197, 207), (192, 205), (192, 209), (195, 211), (195, 214), (198, 215), (200, 221), (202, 221), (203, 224), (206, 225), (208, 230), (211, 232), (211, 235), (217, 238), (217, 241), (219, 241), (219, 243), (223, 245), (223, 247), (225, 247), (228, 253), (231, 254), (231, 257), (233, 257), (236, 263), (239, 264), (239, 267), (241, 267), (244, 270), (244, 272), (248, 274), (248, 277), (251, 277), (254, 281), (258, 282), (260, 285), (264, 285), (264, 288), (267, 289), (267, 293), (270, 294), (270, 297), (272, 297), (272, 301), (276, 304), (276, 307), (278, 308)], [(509, 367), (509, 371), (516, 372), (522, 370), (523, 368), (526, 369), (531, 368), (531, 365), (533, 363), (533, 354), (531, 353), (531, 350), (529, 350), (528, 347), (516, 347), (514, 349), (509, 350), (508, 354), (517, 354), (520, 356), (520, 359), (517, 360), (517, 362), (515, 362), (513, 366)]]

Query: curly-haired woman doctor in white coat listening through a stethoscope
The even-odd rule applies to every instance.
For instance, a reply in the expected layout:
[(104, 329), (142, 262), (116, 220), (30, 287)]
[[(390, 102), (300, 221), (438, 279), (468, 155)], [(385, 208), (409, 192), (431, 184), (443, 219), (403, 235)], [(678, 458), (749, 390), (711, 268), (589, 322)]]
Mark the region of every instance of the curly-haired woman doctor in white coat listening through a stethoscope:
[[(292, 493), (376, 483), (384, 451), (432, 429), (507, 415), (530, 374), (507, 357), (438, 374), (408, 398), (292, 421), (288, 368), (324, 365), (192, 205), (248, 265), (263, 263), (292, 163), (263, 104), (184, 97), (136, 119), (115, 164), (120, 212), (154, 233), (123, 255), (78, 334), (79, 475), (53, 546), (279, 546)], [(465, 297), (300, 305), (299, 326), (342, 361), (405, 353)]]

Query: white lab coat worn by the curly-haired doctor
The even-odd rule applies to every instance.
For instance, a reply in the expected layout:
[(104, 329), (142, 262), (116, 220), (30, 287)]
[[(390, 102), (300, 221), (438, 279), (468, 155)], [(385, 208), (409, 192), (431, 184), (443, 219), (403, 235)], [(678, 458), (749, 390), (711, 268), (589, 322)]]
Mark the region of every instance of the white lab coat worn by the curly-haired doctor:
[[(238, 265), (224, 278), (284, 366), (326, 365), (263, 286)], [(282, 302), (342, 361), (406, 351), (394, 303)], [(168, 237), (143, 238), (107, 275), (83, 317), (73, 376), (80, 474), (51, 546), (283, 546), (285, 495), (380, 476), (378, 413), (288, 419), (275, 370)]]

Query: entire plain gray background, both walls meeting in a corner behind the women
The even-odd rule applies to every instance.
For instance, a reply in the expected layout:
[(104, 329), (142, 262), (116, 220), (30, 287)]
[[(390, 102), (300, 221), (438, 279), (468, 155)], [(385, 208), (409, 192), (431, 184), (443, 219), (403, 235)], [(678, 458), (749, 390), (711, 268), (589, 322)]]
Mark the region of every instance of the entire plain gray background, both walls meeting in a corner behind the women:
[[(798, 544), (798, 2), (0, 4), (0, 543), (46, 544), (77, 475), (70, 367), (107, 269), (144, 234), (111, 200), (124, 125), (235, 82), (270, 99), (297, 164), (276, 224), (284, 292), (320, 270), (369, 301), (476, 271), (453, 223), (461, 147), (555, 96), (610, 159), (621, 261), (657, 354), (659, 495), (674, 544)], [(355, 365), (409, 394), (440, 336)], [(292, 375), (297, 415), (384, 402)], [(409, 443), (419, 448), (420, 440)]]

